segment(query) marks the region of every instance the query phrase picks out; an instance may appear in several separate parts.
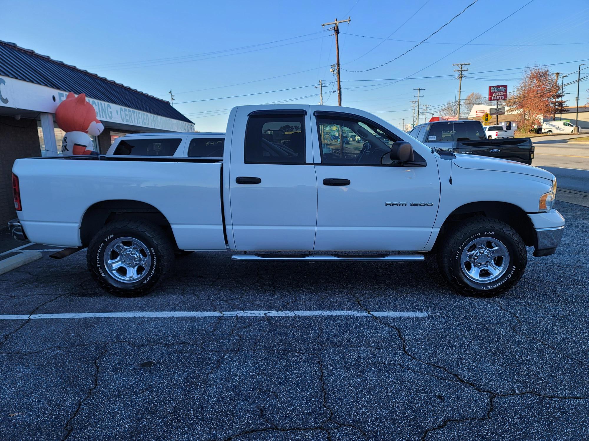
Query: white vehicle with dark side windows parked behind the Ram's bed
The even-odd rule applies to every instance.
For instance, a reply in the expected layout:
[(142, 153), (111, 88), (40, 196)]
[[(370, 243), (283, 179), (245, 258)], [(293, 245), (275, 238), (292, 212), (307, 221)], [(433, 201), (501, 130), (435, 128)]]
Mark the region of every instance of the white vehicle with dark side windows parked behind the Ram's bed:
[(223, 159), (224, 142), (225, 133), (130, 133), (115, 139), (107, 155)]

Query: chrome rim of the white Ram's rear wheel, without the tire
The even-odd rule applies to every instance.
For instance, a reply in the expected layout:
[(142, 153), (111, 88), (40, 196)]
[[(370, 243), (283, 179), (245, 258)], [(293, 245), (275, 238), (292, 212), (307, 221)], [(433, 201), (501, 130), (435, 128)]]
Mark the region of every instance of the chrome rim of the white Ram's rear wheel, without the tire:
[(151, 254), (141, 240), (118, 238), (104, 250), (104, 267), (119, 282), (133, 283), (142, 279), (151, 268)]

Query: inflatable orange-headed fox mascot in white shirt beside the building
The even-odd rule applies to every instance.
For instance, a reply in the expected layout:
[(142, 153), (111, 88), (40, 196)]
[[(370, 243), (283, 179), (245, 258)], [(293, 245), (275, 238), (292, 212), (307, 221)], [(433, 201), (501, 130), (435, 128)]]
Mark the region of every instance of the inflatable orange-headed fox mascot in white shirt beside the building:
[(104, 125), (96, 119), (94, 106), (86, 101), (86, 95), (68, 93), (55, 111), (55, 121), (66, 132), (61, 143), (62, 155), (90, 155), (94, 153), (92, 136), (98, 136)]

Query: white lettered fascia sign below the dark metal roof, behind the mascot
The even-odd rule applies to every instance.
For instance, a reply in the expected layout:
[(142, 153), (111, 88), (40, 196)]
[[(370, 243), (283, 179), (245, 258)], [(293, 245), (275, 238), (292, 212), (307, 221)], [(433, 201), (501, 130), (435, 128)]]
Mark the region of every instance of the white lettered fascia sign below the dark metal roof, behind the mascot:
[[(28, 81), (0, 77), (0, 108), (24, 109), (35, 112), (55, 113), (59, 103), (65, 100), (68, 92), (59, 91)], [(105, 126), (119, 123), (137, 127), (147, 127), (172, 132), (194, 132), (194, 124), (178, 119), (166, 118), (123, 107), (114, 103), (86, 98), (94, 109), (96, 116)]]

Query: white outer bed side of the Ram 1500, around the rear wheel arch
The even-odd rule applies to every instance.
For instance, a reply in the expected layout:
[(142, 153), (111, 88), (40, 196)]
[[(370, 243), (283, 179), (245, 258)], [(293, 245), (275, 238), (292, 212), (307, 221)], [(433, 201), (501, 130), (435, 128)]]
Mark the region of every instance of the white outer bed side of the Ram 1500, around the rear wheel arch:
[(32, 242), (81, 246), (80, 225), (89, 208), (130, 199), (166, 216), (178, 248), (224, 250), (221, 168), (219, 160), (153, 156), (17, 159), (19, 218)]

